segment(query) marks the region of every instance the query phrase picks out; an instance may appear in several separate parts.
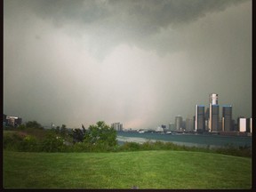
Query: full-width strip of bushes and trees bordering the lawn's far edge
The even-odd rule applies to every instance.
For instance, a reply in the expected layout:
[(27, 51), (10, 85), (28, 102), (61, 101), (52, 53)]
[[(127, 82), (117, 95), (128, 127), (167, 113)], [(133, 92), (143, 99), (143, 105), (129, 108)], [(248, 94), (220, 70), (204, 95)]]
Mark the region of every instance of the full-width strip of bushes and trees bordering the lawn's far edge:
[(182, 150), (218, 153), (229, 156), (252, 157), (251, 146), (222, 148), (198, 148), (173, 144), (172, 142), (151, 141), (144, 143), (124, 142), (118, 145), (116, 131), (98, 122), (88, 129), (68, 130), (65, 124), (54, 129), (44, 129), (40, 124), (28, 122), (17, 128), (4, 130), (4, 150), (20, 152), (124, 152), (143, 150)]

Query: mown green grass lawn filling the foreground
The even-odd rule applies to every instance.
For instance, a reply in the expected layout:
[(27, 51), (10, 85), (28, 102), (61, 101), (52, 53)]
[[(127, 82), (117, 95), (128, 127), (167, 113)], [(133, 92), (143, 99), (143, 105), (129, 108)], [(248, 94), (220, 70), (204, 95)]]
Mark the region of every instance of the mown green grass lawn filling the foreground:
[(188, 151), (4, 151), (4, 188), (252, 188), (252, 159)]

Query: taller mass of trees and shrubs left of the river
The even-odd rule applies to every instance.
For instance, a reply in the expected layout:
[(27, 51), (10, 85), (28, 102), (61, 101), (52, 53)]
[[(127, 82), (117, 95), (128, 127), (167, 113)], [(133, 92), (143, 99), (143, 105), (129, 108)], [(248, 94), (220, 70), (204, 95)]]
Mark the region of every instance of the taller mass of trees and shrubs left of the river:
[(82, 129), (72, 130), (65, 124), (47, 130), (36, 121), (29, 121), (12, 131), (14, 132), (4, 133), (4, 149), (31, 152), (82, 152), (108, 151), (117, 146), (116, 131), (104, 121), (92, 124), (88, 129), (82, 124)]

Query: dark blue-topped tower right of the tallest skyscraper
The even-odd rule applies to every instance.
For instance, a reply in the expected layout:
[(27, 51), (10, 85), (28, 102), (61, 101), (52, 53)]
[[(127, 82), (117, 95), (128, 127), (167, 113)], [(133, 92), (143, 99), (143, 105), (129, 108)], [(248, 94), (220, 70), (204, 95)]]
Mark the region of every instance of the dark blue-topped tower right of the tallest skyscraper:
[(229, 132), (232, 131), (232, 106), (223, 106), (222, 107), (222, 124), (221, 131)]

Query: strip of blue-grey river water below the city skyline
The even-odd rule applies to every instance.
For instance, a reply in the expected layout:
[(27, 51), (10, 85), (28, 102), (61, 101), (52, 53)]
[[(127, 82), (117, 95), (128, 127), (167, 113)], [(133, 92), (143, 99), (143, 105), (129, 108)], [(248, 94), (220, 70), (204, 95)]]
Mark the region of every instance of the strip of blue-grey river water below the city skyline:
[(189, 147), (209, 147), (220, 148), (224, 146), (252, 146), (252, 137), (242, 136), (220, 136), (220, 135), (196, 135), (196, 134), (159, 134), (153, 133), (139, 133), (139, 132), (117, 132), (117, 140), (120, 145), (125, 141), (143, 143), (147, 140), (164, 142), (172, 142), (178, 145), (185, 145)]

